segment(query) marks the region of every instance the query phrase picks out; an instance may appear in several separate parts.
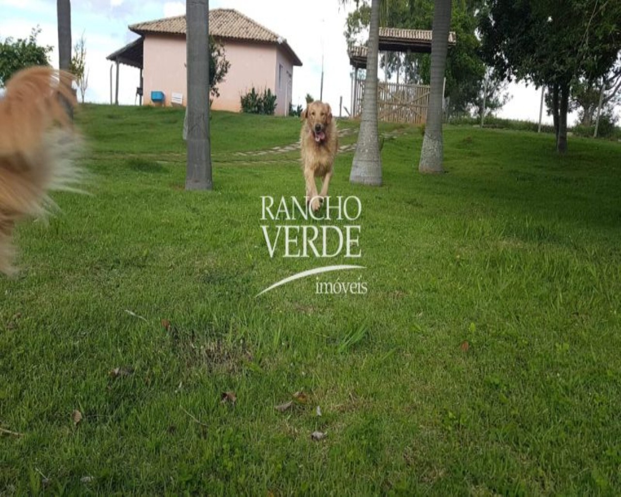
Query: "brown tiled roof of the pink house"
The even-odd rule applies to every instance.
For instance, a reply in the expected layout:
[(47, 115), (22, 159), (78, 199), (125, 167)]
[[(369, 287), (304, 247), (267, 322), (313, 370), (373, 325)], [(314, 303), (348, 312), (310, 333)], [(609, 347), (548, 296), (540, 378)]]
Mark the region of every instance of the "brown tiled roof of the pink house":
[[(186, 16), (138, 22), (137, 24), (130, 25), (129, 29), (140, 35), (153, 33), (184, 35), (186, 34)], [(210, 10), (209, 34), (214, 38), (223, 40), (276, 43), (282, 45), (284, 50), (291, 55), (294, 65), (302, 65), (301, 60), (299, 60), (296, 53), (293, 52), (283, 37), (235, 9)]]

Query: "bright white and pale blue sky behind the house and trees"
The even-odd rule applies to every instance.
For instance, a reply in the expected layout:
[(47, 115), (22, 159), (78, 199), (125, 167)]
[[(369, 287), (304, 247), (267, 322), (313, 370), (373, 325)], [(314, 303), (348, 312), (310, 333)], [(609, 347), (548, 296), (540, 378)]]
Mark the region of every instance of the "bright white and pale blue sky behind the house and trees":
[[(38, 24), (42, 29), (39, 42), (56, 47), (55, 0), (1, 0), (1, 3), (0, 37), (27, 37), (30, 29)], [(347, 12), (353, 9), (353, 4), (353, 1), (350, 2), (348, 9), (344, 9), (338, 0), (312, 0), (304, 4), (292, 0), (209, 2), (212, 9), (237, 9), (287, 40), (303, 64), (301, 68), (294, 68), (294, 106), (304, 104), (307, 93), (319, 99), (323, 55), (323, 99), (330, 103), (335, 114), (338, 114), (340, 97), (343, 98), (343, 106), (350, 107), (351, 68), (343, 31)], [(112, 64), (106, 56), (136, 36), (127, 29), (127, 25), (185, 12), (185, 2), (180, 0), (73, 0), (71, 7), (73, 41), (82, 33), (86, 38), (87, 67), (90, 71), (86, 100), (97, 103), (110, 101)], [(52, 63), (58, 63), (56, 48), (52, 53)], [(134, 104), (136, 86), (138, 70), (121, 65), (120, 103)], [(540, 92), (524, 84), (511, 84), (509, 89), (512, 99), (498, 112), (499, 116), (538, 121)], [(551, 122), (545, 111), (544, 121)], [(573, 122), (573, 119), (570, 117), (569, 121)]]

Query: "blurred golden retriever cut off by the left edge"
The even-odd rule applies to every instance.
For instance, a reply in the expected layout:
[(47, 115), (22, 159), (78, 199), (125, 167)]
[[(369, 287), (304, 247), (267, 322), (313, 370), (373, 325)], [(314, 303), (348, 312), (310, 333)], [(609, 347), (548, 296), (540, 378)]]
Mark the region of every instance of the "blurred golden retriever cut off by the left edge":
[(0, 273), (14, 273), (12, 231), (55, 204), (50, 189), (74, 189), (78, 136), (61, 104), (76, 103), (71, 76), (49, 67), (19, 71), (0, 97)]

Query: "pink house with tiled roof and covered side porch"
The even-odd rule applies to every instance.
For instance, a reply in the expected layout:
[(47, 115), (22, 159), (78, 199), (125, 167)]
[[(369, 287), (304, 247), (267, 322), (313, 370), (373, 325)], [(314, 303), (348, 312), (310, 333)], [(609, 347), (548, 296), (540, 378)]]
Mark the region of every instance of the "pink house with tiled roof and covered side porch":
[[(145, 105), (185, 105), (186, 17), (168, 17), (132, 24), (140, 38), (107, 58), (140, 69), (138, 94)], [(230, 63), (218, 85), (212, 109), (239, 112), (240, 97), (253, 87), (276, 94), (276, 114), (286, 116), (291, 103), (294, 66), (302, 62), (283, 37), (234, 9), (209, 11), (209, 34), (224, 45)], [(118, 83), (117, 83), (118, 87)], [(118, 99), (117, 99), (118, 101)]]

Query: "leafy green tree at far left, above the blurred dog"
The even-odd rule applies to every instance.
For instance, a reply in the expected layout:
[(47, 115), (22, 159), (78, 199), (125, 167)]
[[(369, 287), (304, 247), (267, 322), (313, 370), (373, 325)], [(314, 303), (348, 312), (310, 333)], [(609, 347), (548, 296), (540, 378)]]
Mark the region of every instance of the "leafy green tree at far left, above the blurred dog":
[(42, 46), (37, 42), (41, 29), (32, 29), (27, 39), (6, 38), (0, 40), (0, 88), (11, 79), (17, 71), (29, 66), (50, 65), (49, 53), (52, 47)]

